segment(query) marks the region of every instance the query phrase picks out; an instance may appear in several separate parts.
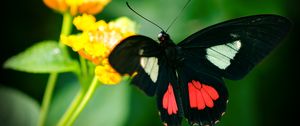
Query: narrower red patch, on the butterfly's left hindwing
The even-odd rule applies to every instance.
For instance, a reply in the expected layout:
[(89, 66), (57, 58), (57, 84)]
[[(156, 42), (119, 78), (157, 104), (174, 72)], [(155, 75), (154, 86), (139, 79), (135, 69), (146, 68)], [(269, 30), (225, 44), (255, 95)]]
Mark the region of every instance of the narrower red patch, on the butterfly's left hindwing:
[(175, 95), (171, 83), (169, 83), (168, 89), (163, 96), (162, 103), (163, 103), (163, 108), (168, 111), (169, 115), (177, 114), (178, 107), (177, 107), (177, 103), (176, 103), (176, 99), (175, 99)]

